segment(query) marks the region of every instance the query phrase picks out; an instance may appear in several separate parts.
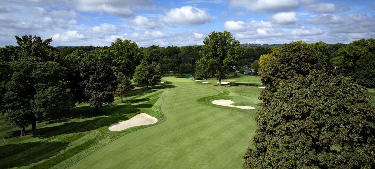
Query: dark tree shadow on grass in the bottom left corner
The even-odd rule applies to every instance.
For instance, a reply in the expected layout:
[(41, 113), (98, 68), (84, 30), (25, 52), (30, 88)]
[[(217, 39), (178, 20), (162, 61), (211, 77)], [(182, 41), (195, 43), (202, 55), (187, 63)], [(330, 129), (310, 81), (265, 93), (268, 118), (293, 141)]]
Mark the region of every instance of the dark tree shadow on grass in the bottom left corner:
[[(0, 168), (28, 166), (55, 156), (67, 142), (27, 142), (0, 146)], [(31, 156), (30, 156), (31, 154)]]

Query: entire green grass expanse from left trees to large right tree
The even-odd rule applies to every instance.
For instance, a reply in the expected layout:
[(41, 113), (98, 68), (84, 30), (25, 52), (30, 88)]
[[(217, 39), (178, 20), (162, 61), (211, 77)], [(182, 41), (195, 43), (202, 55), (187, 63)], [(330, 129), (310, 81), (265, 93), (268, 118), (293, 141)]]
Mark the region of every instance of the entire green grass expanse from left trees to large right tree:
[[(261, 89), (182, 78), (162, 81), (166, 84), (132, 91), (124, 103), (116, 97), (100, 114), (80, 104), (70, 114), (39, 121), (38, 136), (18, 137), (18, 127), (1, 116), (0, 168), (241, 168), (257, 110), (211, 102), (231, 99), (235, 105), (257, 107)], [(108, 130), (141, 112), (158, 122)]]

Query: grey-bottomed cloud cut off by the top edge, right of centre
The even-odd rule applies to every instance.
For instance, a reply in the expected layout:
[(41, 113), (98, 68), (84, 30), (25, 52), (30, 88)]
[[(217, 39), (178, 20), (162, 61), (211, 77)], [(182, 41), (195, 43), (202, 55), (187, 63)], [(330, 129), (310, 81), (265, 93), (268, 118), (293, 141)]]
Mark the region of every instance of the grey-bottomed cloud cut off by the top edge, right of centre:
[(288, 12), (300, 6), (299, 0), (229, 0), (231, 7), (245, 7), (245, 9), (260, 13)]

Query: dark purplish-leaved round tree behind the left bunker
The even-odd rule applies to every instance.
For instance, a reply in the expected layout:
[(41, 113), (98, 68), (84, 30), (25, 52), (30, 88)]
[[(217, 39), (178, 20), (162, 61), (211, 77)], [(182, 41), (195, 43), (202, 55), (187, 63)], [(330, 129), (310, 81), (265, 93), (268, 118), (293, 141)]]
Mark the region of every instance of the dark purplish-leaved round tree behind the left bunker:
[(114, 102), (113, 92), (117, 88), (117, 79), (113, 70), (104, 61), (88, 61), (75, 65), (74, 94), (78, 103), (95, 105), (95, 112), (99, 112), (99, 105)]

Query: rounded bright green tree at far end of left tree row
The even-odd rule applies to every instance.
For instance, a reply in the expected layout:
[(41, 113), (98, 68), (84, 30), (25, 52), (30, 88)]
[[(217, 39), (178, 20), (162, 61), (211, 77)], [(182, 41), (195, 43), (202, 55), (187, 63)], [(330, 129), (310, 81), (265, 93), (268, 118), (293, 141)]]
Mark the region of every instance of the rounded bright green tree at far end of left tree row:
[(160, 83), (161, 70), (160, 65), (153, 62), (152, 64), (148, 61), (142, 60), (135, 69), (134, 81), (139, 84), (157, 84)]

